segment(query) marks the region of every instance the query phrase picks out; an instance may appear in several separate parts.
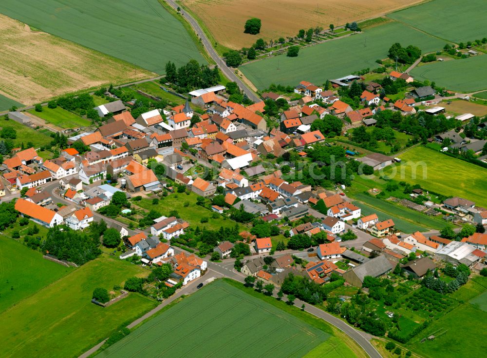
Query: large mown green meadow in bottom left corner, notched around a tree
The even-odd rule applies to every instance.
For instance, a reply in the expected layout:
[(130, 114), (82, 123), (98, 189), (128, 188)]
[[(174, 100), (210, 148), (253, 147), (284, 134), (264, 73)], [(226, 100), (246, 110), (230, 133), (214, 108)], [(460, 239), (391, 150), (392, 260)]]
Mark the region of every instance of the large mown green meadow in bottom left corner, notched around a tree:
[(0, 314), (0, 356), (77, 357), (155, 307), (155, 301), (133, 293), (107, 308), (91, 303), (94, 288), (111, 290), (134, 275), (147, 271), (103, 256), (24, 299)]

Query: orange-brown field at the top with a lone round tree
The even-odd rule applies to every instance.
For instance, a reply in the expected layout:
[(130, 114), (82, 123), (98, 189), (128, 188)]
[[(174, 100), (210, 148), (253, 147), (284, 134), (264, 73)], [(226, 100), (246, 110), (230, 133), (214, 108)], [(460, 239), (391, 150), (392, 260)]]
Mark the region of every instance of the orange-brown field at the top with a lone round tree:
[[(300, 29), (328, 28), (365, 20), (397, 10), (418, 0), (182, 0), (198, 16), (215, 40), (230, 48), (248, 47), (257, 39), (296, 36)], [(261, 33), (244, 34), (245, 21), (262, 20)]]

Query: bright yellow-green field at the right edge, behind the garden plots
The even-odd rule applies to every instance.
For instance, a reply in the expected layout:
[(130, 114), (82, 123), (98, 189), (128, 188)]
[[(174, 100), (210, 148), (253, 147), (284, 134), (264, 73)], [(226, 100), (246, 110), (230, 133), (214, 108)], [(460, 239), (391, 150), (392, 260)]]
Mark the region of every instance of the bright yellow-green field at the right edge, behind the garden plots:
[[(400, 165), (387, 167), (384, 175), (420, 184), (425, 190), (445, 196), (469, 199), (477, 206), (487, 206), (487, 169), (422, 146), (411, 148), (398, 157), (402, 159)], [(418, 165), (413, 169), (412, 164)]]

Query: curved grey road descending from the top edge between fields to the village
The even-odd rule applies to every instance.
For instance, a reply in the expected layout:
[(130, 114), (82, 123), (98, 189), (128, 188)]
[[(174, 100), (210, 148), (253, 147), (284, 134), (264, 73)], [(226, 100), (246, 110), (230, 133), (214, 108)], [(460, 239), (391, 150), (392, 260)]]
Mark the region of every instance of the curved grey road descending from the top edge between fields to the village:
[[(171, 5), (171, 7), (173, 7), (174, 10), (177, 11), (178, 4), (176, 2), (174, 2), (173, 0), (166, 0), (166, 2), (169, 5)], [(189, 15), (186, 11), (181, 11), (180, 14), (182, 14), (183, 18), (185, 18), (187, 22), (189, 22), (193, 30), (196, 32), (198, 37), (203, 42), (203, 46), (205, 46), (206, 52), (215, 61), (216, 65), (220, 67), (220, 69), (225, 74), (225, 76), (228, 77), (230, 80), (237, 82), (240, 89), (244, 91), (244, 93), (247, 95), (249, 99), (252, 99), (254, 102), (260, 102), (262, 99), (260, 99), (254, 92), (252, 92), (250, 88), (248, 88), (245, 85), (245, 83), (241, 79), (239, 79), (235, 75), (235, 73), (233, 73), (233, 70), (226, 65), (225, 61), (220, 56), (218, 56), (215, 49), (211, 45), (210, 41), (206, 37), (206, 34), (201, 28), (200, 24), (196, 20), (194, 20), (194, 18), (191, 15)]]

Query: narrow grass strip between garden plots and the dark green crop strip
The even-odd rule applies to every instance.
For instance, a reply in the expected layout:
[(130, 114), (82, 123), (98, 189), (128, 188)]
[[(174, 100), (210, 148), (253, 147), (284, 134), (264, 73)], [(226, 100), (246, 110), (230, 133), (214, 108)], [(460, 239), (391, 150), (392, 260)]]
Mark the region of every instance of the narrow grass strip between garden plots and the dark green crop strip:
[(437, 230), (441, 230), (445, 226), (448, 226), (448, 223), (446, 221), (431, 218), (425, 214), (414, 211), (412, 209), (408, 209), (406, 207), (400, 206), (400, 205), (392, 203), (390, 201), (378, 199), (378, 198), (366, 195), (364, 193), (356, 193), (353, 196), (353, 198), (360, 200), (360, 201), (363, 201), (371, 207), (374, 207), (374, 208), (377, 208), (383, 212), (389, 213), (389, 215), (393, 215), (397, 218), (408, 220), (409, 222), (413, 223), (414, 225), (422, 225), (422, 226), (426, 226), (426, 227), (429, 227), (431, 229), (437, 229)]

